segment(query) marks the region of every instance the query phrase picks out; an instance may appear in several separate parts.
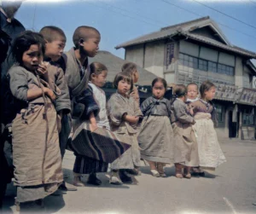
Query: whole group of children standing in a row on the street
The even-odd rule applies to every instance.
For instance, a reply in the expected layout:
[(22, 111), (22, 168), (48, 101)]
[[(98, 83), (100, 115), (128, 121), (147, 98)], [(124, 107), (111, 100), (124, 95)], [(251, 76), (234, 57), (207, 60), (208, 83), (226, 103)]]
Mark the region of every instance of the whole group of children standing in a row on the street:
[[(141, 159), (148, 161), (156, 177), (166, 177), (165, 165), (174, 163), (179, 178), (201, 173), (200, 167), (213, 170), (225, 161), (213, 128), (214, 84), (201, 84), (200, 99), (196, 84), (177, 84), (175, 98), (168, 100), (164, 98), (166, 80), (155, 78), (153, 95), (140, 105), (134, 85), (139, 78), (137, 67), (125, 63), (113, 79), (116, 93), (107, 102), (102, 86), (108, 68), (88, 62), (97, 54), (100, 40), (95, 28), (79, 26), (73, 34), (74, 48), (63, 53), (66, 36), (55, 26), (15, 38), (16, 64), (7, 79), (16, 105), (12, 143), (17, 203), (42, 205), (44, 197), (57, 188), (69, 190), (63, 182), (61, 159), (71, 130), (84, 121), (90, 123), (91, 131), (111, 130), (131, 145), (111, 164), (112, 184), (133, 182), (131, 175), (141, 174)], [(83, 174), (90, 174), (88, 183), (100, 185), (96, 173), (107, 172), (108, 164), (74, 154), (73, 185), (84, 186)]]

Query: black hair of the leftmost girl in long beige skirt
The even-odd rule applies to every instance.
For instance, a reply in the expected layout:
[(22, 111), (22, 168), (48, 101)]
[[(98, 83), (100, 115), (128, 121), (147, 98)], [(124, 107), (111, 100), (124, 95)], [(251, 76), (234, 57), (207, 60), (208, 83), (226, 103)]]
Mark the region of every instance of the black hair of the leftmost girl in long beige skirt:
[(41, 49), (42, 54), (44, 55), (45, 42), (43, 36), (40, 33), (32, 31), (20, 33), (20, 35), (15, 38), (12, 46), (12, 53), (14, 55), (15, 61), (22, 64), (22, 56), (24, 52), (30, 49), (30, 46), (33, 44), (37, 44), (39, 49)]

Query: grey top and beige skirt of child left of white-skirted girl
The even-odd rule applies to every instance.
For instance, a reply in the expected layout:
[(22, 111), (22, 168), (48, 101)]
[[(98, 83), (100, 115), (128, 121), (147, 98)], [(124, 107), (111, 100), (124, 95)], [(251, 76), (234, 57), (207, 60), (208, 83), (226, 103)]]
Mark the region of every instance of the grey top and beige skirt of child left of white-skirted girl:
[(198, 148), (192, 125), (195, 120), (189, 115), (186, 104), (180, 99), (172, 103), (174, 117), (172, 129), (174, 133), (174, 163), (185, 166), (198, 166)]

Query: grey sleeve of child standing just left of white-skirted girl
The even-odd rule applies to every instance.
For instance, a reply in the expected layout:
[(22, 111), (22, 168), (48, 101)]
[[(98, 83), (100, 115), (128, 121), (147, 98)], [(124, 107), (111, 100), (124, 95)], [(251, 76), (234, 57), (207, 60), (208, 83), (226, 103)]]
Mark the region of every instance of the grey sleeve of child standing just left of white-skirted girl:
[(174, 112), (177, 120), (183, 124), (195, 124), (195, 120), (186, 112), (186, 105), (179, 101), (174, 102)]

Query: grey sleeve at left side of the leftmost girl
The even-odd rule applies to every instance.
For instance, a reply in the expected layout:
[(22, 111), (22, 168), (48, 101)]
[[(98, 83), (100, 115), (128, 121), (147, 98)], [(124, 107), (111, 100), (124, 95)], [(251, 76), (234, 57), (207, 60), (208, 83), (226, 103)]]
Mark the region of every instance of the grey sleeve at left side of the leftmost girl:
[(26, 73), (20, 67), (13, 67), (9, 71), (9, 87), (15, 98), (27, 101), (28, 82)]

